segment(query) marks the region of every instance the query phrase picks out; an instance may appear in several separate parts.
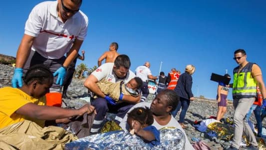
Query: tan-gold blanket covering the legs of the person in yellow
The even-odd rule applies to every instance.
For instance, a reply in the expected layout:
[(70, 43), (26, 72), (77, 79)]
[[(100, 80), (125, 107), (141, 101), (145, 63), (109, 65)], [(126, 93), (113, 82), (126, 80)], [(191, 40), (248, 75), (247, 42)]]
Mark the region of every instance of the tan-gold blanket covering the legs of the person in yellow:
[(61, 127), (42, 128), (29, 120), (0, 129), (0, 149), (63, 149), (65, 143), (76, 139), (75, 135)]

